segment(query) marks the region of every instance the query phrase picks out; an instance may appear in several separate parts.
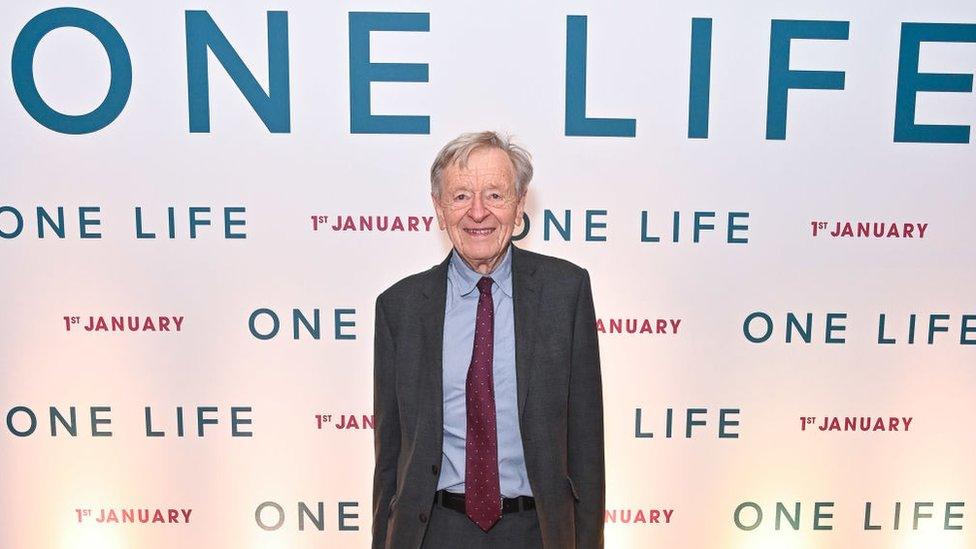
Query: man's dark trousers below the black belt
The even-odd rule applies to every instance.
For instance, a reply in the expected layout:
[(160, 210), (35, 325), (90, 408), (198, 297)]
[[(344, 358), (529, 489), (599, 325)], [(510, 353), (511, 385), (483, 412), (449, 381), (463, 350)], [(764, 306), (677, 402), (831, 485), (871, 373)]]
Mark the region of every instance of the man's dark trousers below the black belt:
[(541, 549), (535, 509), (506, 513), (487, 532), (467, 515), (435, 503), (421, 549)]

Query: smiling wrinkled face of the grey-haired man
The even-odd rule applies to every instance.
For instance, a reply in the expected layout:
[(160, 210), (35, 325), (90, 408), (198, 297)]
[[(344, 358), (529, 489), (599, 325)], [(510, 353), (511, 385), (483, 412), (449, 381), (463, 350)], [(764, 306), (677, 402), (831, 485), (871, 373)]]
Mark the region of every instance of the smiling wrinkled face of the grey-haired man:
[(525, 196), (515, 194), (515, 171), (495, 147), (475, 149), (462, 170), (444, 170), (441, 196), (434, 199), (437, 224), (446, 230), (461, 258), (488, 274), (501, 261), (516, 225), (522, 224)]

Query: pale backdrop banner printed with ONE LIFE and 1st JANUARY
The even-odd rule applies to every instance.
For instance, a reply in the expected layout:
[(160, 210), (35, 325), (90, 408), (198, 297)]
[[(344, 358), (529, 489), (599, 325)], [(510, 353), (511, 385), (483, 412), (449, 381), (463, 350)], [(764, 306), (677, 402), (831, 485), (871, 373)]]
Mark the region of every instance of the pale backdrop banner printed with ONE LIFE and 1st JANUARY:
[(0, 546), (364, 547), (429, 166), (592, 276), (608, 547), (976, 546), (976, 4), (5, 2)]

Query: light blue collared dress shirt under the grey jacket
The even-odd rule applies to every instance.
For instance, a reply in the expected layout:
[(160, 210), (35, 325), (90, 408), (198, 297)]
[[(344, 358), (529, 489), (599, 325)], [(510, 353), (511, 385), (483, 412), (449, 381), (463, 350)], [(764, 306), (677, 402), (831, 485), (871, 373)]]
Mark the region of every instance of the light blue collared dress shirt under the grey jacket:
[[(531, 496), (518, 422), (511, 245), (501, 263), (487, 276), (494, 280), (491, 285), (495, 307), (492, 377), (498, 430), (498, 482), (502, 497)], [(480, 297), (477, 284), (481, 277), (454, 250), (447, 268), (444, 310), (444, 449), (437, 489), (456, 493), (464, 492), (466, 381), (474, 351), (474, 325)]]

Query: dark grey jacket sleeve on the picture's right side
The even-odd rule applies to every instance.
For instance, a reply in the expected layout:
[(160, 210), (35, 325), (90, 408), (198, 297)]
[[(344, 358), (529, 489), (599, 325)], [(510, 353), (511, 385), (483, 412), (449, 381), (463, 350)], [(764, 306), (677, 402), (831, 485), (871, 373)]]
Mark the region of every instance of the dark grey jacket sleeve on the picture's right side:
[(578, 495), (576, 545), (580, 549), (602, 549), (606, 485), (603, 384), (600, 376), (596, 313), (593, 308), (590, 275), (586, 270), (580, 280), (573, 322), (568, 426), (569, 476)]

